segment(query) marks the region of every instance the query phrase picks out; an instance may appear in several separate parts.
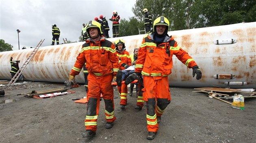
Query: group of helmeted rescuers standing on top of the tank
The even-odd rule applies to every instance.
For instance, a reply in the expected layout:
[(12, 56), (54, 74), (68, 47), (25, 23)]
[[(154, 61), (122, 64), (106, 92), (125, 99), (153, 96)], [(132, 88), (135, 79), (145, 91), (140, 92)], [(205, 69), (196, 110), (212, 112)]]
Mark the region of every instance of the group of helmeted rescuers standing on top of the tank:
[[(145, 13), (145, 33), (149, 34), (150, 32), (152, 32), (152, 16), (150, 15), (150, 13), (148, 12), (147, 8), (143, 9), (143, 13)], [(119, 20), (120, 20), (120, 16), (117, 14), (117, 11), (114, 10), (113, 11), (113, 15), (111, 17), (111, 19), (109, 19), (110, 21), (112, 21), (112, 32), (113, 32), (113, 38), (115, 37), (119, 37)], [(100, 19), (98, 17), (94, 18), (94, 21), (97, 21), (101, 24), (102, 29), (103, 29), (103, 33), (102, 35), (105, 36), (106, 38), (109, 38), (108, 35), (108, 31), (109, 31), (109, 26), (108, 26), (108, 21), (106, 20), (106, 17), (103, 15), (100, 15)], [(83, 23), (82, 24), (82, 39), (85, 41), (87, 38), (89, 38), (88, 33), (86, 32), (86, 24)], [(52, 44), (54, 45), (54, 42), (56, 40), (56, 44), (59, 45), (59, 37), (61, 35), (61, 31), (60, 29), (56, 26), (56, 24), (52, 25)]]

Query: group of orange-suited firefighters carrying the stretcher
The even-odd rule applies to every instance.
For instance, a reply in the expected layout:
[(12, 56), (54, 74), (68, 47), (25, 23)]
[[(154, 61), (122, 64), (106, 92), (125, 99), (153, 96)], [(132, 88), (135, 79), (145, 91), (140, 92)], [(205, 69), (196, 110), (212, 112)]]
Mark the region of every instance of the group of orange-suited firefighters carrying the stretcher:
[[(129, 83), (135, 79), (143, 81), (143, 86), (137, 93), (138, 100), (135, 109), (141, 110), (145, 101), (148, 128), (146, 138), (148, 140), (152, 140), (156, 136), (161, 116), (171, 101), (168, 75), (171, 74), (173, 65), (172, 56), (176, 55), (184, 65), (192, 68), (192, 76), (194, 77), (196, 74), (197, 80), (202, 78), (202, 72), (197, 63), (178, 46), (172, 36), (167, 34), (169, 26), (167, 18), (163, 16), (156, 18), (152, 33), (143, 38), (139, 49), (135, 48), (134, 57), (137, 55), (137, 59), (134, 59), (126, 51), (123, 40), (117, 39), (114, 44), (106, 40), (104, 29), (99, 22), (89, 21), (87, 23), (85, 30), (89, 38), (82, 45), (76, 63), (69, 73), (69, 81), (75, 82), (75, 76), (80, 73), (86, 63), (88, 103), (85, 118), (86, 130), (83, 137), (93, 137), (96, 134), (101, 94), (105, 103), (105, 128), (113, 127), (116, 117), (111, 83), (120, 80), (117, 79), (117, 73), (132, 64), (135, 65), (135, 72), (126, 78), (125, 83), (127, 83), (127, 79), (132, 79), (128, 81)], [(116, 36), (118, 37), (118, 35)], [(124, 109), (127, 104), (127, 84), (121, 84), (117, 88), (121, 97), (120, 108)]]

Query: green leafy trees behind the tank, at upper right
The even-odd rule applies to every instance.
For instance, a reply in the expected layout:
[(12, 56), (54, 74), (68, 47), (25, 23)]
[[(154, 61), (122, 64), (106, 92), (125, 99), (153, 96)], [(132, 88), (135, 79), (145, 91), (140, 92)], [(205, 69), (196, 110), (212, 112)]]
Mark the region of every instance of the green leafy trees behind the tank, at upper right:
[(256, 21), (256, 0), (136, 0), (134, 16), (120, 20), (119, 36), (144, 29), (144, 8), (152, 23), (161, 15), (169, 19), (170, 31)]

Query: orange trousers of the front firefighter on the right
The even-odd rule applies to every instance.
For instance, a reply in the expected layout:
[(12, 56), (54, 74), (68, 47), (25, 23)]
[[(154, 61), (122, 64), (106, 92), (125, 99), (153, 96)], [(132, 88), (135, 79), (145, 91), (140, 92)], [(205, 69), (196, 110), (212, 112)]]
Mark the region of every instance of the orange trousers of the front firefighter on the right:
[(149, 132), (157, 132), (156, 116), (161, 116), (171, 101), (168, 77), (143, 76), (143, 99), (147, 106), (147, 128)]

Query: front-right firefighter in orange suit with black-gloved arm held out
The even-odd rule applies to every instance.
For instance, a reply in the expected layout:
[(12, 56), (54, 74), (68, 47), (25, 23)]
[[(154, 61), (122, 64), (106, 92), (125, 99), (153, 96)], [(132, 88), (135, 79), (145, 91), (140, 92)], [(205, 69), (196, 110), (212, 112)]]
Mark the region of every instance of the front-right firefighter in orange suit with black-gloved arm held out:
[(184, 51), (172, 36), (168, 36), (169, 21), (158, 17), (153, 23), (153, 33), (143, 38), (139, 47), (135, 73), (143, 75), (143, 99), (147, 106), (147, 139), (154, 139), (161, 115), (171, 101), (168, 75), (171, 74), (172, 56), (188, 68), (193, 69), (193, 77), (202, 78), (202, 72), (189, 54)]

